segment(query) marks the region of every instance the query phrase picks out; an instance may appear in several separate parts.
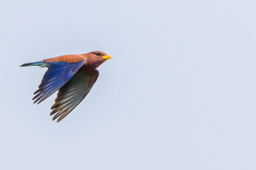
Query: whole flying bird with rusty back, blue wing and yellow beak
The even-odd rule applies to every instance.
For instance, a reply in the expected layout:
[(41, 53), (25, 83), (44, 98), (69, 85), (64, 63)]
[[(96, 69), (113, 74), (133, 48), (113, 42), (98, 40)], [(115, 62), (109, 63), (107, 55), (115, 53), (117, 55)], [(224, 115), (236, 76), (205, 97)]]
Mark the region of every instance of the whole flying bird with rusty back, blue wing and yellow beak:
[(40, 104), (56, 91), (57, 97), (52, 112), (52, 121), (63, 120), (88, 95), (99, 77), (97, 68), (112, 56), (101, 51), (86, 54), (68, 54), (20, 65), (48, 68), (41, 84), (35, 91), (34, 104)]

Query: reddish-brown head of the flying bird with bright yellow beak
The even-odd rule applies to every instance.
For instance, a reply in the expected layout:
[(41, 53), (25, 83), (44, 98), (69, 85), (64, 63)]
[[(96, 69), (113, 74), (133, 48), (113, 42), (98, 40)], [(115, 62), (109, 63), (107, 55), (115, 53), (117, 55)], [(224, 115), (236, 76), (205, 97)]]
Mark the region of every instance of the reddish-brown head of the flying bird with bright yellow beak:
[(89, 52), (87, 55), (88, 56), (87, 56), (86, 62), (89, 65), (93, 65), (93, 67), (95, 68), (100, 66), (102, 63), (104, 63), (108, 59), (112, 58), (109, 54), (106, 54), (105, 52), (101, 52), (98, 50)]

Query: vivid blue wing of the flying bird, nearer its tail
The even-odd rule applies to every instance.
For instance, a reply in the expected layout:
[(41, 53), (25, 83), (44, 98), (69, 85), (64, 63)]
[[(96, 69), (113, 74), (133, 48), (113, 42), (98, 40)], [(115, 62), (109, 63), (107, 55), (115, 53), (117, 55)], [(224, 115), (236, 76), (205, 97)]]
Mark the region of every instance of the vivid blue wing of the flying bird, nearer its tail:
[(76, 63), (68, 63), (67, 61), (46, 62), (49, 68), (45, 72), (38, 90), (34, 93), (33, 100), (36, 99), (34, 104), (38, 101), (38, 104), (40, 104), (60, 89), (83, 66), (85, 61), (86, 59)]

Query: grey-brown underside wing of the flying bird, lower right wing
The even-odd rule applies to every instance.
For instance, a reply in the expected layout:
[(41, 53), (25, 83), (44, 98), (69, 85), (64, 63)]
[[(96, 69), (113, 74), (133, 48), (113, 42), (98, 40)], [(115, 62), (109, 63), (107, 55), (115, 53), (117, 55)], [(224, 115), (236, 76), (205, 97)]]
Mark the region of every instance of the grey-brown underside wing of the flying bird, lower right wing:
[(83, 71), (81, 68), (62, 88), (59, 89), (55, 104), (51, 109), (54, 109), (50, 115), (55, 114), (52, 120), (61, 121), (68, 115), (89, 93), (93, 84), (99, 77), (99, 71), (91, 72)]

